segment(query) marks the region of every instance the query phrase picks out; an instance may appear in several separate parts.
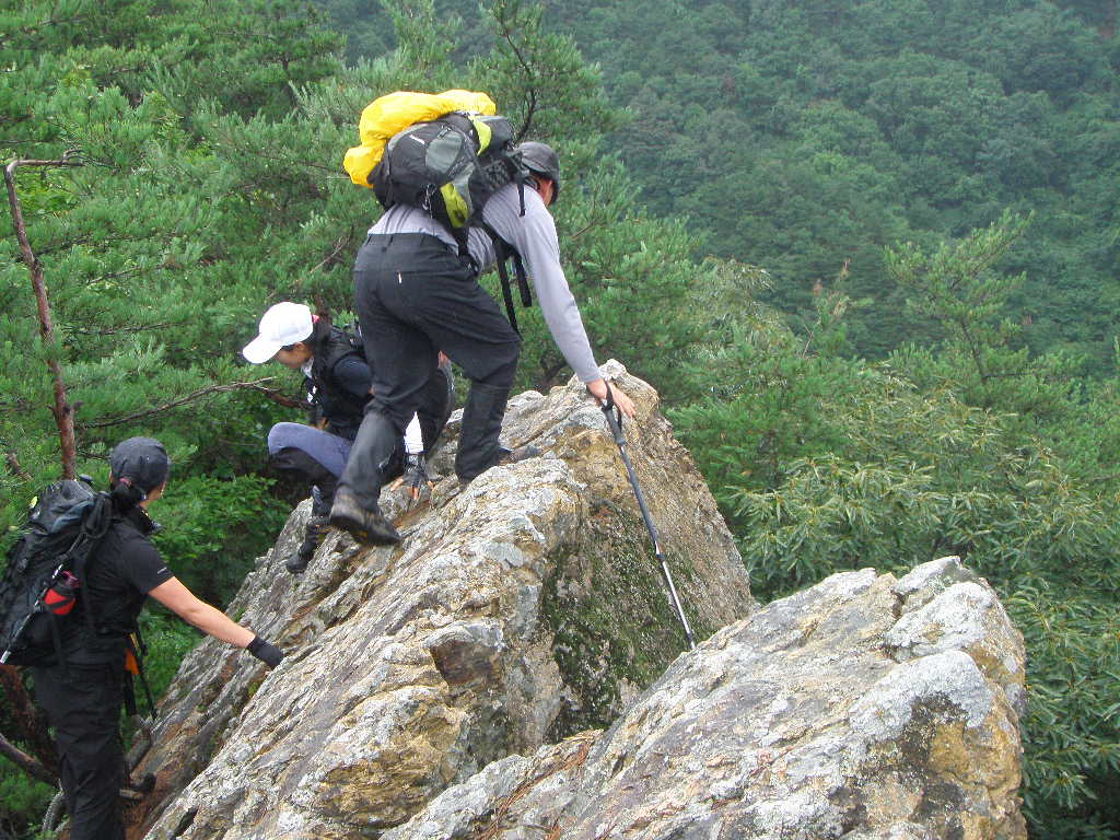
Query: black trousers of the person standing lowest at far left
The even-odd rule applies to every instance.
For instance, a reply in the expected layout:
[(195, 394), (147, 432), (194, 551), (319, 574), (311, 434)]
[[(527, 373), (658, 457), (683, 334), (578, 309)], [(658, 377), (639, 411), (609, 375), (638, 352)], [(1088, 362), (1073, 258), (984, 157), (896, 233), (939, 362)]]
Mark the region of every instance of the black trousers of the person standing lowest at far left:
[[(67, 673), (68, 670), (68, 673)], [(120, 720), (124, 664), (32, 669), (35, 699), (55, 730), (71, 840), (124, 840)]]

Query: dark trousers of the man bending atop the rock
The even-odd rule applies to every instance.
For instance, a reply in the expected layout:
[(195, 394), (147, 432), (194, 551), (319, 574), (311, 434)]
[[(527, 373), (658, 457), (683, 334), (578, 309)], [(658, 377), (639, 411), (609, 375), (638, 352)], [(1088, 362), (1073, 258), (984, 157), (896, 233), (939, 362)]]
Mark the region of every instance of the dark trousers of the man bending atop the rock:
[[(439, 352), (463, 368), (472, 393), (479, 384), (507, 393), (521, 336), (478, 284), (470, 263), (423, 233), (366, 237), (354, 264), (354, 309), (373, 367), (374, 395), (338, 485), (374, 510), (386, 480), (389, 438), (395, 441), (421, 405)], [(474, 441), (466, 426), (457, 469), (464, 456), (489, 466), (501, 429)], [(463, 451), (461, 441), (472, 441), (470, 451)]]

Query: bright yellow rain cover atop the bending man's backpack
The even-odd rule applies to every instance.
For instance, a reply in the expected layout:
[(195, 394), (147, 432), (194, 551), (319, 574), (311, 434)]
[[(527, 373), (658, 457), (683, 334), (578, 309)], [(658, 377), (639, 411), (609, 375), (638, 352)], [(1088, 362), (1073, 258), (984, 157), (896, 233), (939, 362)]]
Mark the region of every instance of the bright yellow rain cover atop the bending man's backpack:
[(444, 91), (442, 93), (413, 93), (396, 91), (371, 102), (358, 120), (361, 146), (346, 152), (343, 166), (351, 180), (372, 189), (370, 172), (381, 162), (385, 143), (393, 134), (416, 122), (435, 120), (452, 111), (469, 111), (493, 116), (497, 113), (494, 100), (485, 93), (473, 91)]

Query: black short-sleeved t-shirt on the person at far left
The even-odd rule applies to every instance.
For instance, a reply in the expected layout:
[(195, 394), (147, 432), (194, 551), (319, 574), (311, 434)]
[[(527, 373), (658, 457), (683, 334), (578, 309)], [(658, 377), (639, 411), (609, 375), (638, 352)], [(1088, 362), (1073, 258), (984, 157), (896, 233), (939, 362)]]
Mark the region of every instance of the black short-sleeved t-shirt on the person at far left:
[[(65, 623), (63, 653), (76, 665), (123, 661), (124, 638), (136, 629), (148, 592), (174, 575), (151, 544), (153, 524), (142, 507), (113, 521), (91, 554), (77, 606)], [(95, 635), (82, 610), (93, 607)]]

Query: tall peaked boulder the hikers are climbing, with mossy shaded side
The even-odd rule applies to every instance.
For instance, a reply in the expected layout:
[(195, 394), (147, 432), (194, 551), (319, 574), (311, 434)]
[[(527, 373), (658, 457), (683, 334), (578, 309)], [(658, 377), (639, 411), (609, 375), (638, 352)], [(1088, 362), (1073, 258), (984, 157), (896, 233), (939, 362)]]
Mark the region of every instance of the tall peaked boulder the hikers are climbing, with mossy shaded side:
[[(605, 366), (640, 410), (628, 449), (699, 638), (756, 607), (656, 393)], [(452, 430), (454, 431), (454, 430)], [(228, 612), (279, 644), (272, 672), (207, 640), (165, 698), (150, 838), (377, 837), (449, 785), (617, 717), (684, 647), (618, 450), (576, 383), (511, 402), (503, 437), (542, 457), (405, 511), (400, 547), (333, 533), (283, 570), (289, 520)], [(454, 435), (435, 466), (445, 473)]]

